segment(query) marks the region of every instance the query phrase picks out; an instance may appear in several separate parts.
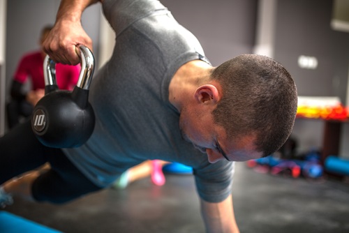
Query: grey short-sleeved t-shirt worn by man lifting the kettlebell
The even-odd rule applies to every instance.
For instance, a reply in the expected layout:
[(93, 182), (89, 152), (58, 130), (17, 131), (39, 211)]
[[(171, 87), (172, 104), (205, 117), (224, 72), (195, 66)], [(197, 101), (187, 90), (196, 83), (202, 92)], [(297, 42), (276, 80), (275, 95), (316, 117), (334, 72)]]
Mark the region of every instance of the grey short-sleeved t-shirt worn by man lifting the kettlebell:
[(91, 83), (96, 126), (86, 144), (64, 149), (66, 155), (101, 187), (144, 160), (182, 163), (193, 167), (202, 199), (224, 200), (231, 192), (234, 164), (211, 164), (184, 141), (179, 112), (168, 100), (177, 69), (195, 59), (207, 61), (200, 43), (159, 1), (105, 0), (103, 12), (117, 43)]

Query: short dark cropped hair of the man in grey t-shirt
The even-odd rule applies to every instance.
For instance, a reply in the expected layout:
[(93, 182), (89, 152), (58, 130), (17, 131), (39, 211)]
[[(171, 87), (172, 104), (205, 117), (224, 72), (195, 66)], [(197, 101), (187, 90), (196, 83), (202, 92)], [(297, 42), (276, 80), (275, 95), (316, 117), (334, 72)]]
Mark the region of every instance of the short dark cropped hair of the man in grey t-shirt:
[(255, 149), (263, 157), (285, 143), (295, 123), (297, 88), (281, 63), (242, 54), (215, 68), (211, 79), (223, 91), (212, 114), (229, 138), (255, 135)]

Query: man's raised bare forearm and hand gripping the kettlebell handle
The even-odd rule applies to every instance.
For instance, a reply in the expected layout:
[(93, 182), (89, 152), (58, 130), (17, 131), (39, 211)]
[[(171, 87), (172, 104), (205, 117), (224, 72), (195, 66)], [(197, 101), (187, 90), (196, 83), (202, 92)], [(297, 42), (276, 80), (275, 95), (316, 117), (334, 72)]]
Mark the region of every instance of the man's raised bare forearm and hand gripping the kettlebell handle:
[(92, 40), (82, 28), (82, 12), (98, 0), (62, 0), (56, 22), (45, 39), (43, 47), (50, 58), (57, 63), (76, 65), (80, 63), (77, 45), (92, 50)]

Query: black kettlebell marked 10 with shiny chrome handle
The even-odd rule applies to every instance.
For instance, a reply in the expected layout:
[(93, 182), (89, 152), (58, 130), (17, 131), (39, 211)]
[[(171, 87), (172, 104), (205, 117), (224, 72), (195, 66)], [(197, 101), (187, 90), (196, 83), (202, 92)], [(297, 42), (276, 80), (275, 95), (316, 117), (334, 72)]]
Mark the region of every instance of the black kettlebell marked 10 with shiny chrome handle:
[(94, 73), (94, 54), (80, 45), (81, 71), (73, 91), (59, 90), (56, 63), (47, 55), (43, 68), (45, 96), (31, 117), (31, 128), (45, 146), (73, 148), (84, 144), (94, 130), (94, 110), (89, 103), (89, 86)]

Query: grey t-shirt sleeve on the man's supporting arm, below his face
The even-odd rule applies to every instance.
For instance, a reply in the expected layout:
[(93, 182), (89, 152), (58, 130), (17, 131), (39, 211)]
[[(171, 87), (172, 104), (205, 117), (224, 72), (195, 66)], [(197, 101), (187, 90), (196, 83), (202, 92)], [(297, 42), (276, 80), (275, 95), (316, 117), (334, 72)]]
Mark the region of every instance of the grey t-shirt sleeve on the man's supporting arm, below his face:
[(194, 169), (196, 188), (202, 200), (221, 202), (232, 193), (235, 162), (225, 160)]

